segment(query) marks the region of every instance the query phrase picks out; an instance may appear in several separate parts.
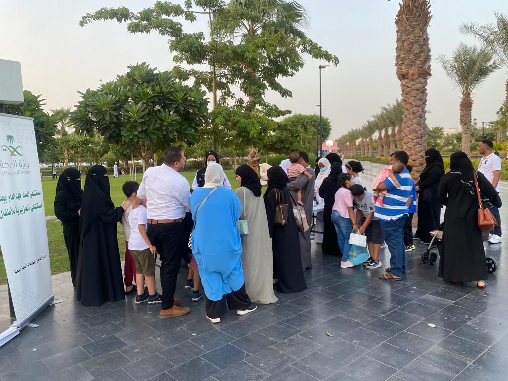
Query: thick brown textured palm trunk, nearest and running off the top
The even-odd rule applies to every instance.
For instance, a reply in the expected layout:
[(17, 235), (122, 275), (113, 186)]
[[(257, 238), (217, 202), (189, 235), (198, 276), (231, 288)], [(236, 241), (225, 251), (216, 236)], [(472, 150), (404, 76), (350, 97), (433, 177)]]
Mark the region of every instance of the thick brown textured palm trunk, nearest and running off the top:
[(418, 176), (425, 165), (425, 108), (430, 77), (429, 0), (401, 0), (395, 24), (397, 47), (395, 66), (402, 90), (403, 149)]

